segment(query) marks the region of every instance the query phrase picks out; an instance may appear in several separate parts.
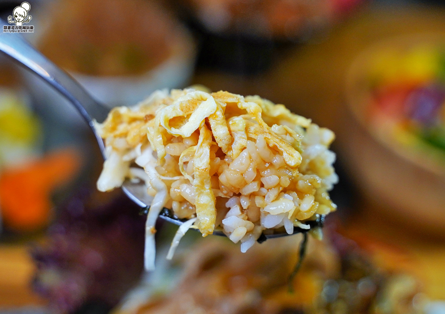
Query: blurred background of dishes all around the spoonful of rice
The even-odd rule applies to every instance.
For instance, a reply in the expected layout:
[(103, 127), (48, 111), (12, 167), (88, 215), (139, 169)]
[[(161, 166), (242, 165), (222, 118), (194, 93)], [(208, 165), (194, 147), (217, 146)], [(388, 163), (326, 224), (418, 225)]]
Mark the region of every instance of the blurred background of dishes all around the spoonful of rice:
[[(144, 216), (121, 191), (95, 190), (102, 158), (88, 125), (0, 56), (0, 313), (445, 313), (445, 3), (29, 3), (35, 31), (22, 36), (110, 108), (201, 84), (258, 94), (331, 128), (338, 211), (297, 279), (305, 298), (287, 294), (283, 273), (265, 275), (277, 261), (264, 250), (242, 257), (192, 232), (177, 259), (160, 253), (158, 271), (143, 274)], [(0, 1), (1, 18), (20, 4)], [(159, 230), (162, 252), (176, 230)], [(264, 247), (291, 252), (290, 265), (298, 243)], [(209, 252), (267, 280), (208, 292), (206, 306), (180, 312), (172, 304), (204, 293), (198, 286), (239, 277)]]

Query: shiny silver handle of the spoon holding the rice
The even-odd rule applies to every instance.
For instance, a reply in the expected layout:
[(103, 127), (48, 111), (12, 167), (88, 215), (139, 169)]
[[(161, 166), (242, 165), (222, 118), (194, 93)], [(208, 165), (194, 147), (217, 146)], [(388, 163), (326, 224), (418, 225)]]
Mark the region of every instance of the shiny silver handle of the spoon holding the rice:
[[(0, 19), (0, 27), (7, 25)], [(0, 30), (1, 32), (1, 30)], [(65, 96), (82, 117), (93, 127), (96, 119), (102, 122), (108, 109), (95, 101), (69, 74), (49, 61), (17, 33), (0, 33), (0, 51), (31, 70)]]

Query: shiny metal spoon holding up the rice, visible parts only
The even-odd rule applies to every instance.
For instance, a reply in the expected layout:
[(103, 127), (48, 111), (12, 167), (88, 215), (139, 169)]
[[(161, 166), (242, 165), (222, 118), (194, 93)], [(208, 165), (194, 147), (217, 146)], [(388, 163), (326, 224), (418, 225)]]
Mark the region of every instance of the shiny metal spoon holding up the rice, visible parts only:
[[(6, 24), (0, 19), (0, 25), (4, 26)], [(14, 61), (18, 62), (21, 66), (31, 70), (39, 77), (44, 79), (45, 82), (65, 96), (71, 102), (71, 104), (76, 107), (85, 121), (87, 121), (89, 124), (91, 131), (96, 137), (97, 144), (102, 152), (102, 156), (105, 158), (103, 141), (94, 128), (94, 121), (105, 120), (109, 109), (94, 100), (75, 79), (49, 61), (42, 53), (32, 47), (19, 34), (0, 33), (0, 51), (14, 59)], [(147, 189), (143, 183), (132, 183), (130, 181), (125, 181), (122, 186), (122, 190), (137, 205), (145, 208), (146, 210), (149, 209), (153, 198), (147, 194)], [(182, 221), (175, 218), (171, 211), (166, 208), (161, 212), (160, 217), (178, 226), (182, 224)], [(321, 227), (323, 222), (324, 217), (319, 216), (316, 220), (308, 222), (308, 224), (311, 227)], [(307, 229), (294, 227), (294, 234), (305, 233), (307, 231)], [(213, 234), (217, 236), (225, 236), (220, 230), (215, 230)], [(264, 234), (260, 237), (259, 241), (261, 242), (267, 238), (280, 236), (288, 236), (288, 234), (286, 232)]]

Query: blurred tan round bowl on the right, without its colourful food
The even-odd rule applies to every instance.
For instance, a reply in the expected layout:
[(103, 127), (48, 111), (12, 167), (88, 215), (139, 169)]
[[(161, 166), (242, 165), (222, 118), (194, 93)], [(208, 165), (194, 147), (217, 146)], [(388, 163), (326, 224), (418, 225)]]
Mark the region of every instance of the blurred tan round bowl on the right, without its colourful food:
[(408, 222), (424, 233), (445, 235), (445, 164), (432, 150), (412, 150), (376, 129), (366, 118), (372, 100), (366, 77), (370, 61), (386, 49), (418, 44), (445, 44), (445, 34), (417, 34), (377, 43), (353, 62), (346, 79), (349, 134), (344, 154), (358, 186), (383, 204), (392, 219)]

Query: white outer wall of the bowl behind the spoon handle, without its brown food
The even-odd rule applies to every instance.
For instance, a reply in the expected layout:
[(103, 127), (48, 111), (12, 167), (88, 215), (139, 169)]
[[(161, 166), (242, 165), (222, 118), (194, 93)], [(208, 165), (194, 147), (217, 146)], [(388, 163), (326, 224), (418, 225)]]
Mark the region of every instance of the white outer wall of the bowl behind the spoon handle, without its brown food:
[[(182, 35), (181, 43), (172, 48), (172, 56), (143, 75), (100, 77), (70, 74), (91, 96), (110, 109), (135, 105), (157, 89), (183, 88), (189, 83), (194, 70), (195, 45), (188, 33)], [(22, 73), (36, 107), (45, 117), (70, 127), (87, 126), (77, 110), (45, 81), (28, 71)]]

